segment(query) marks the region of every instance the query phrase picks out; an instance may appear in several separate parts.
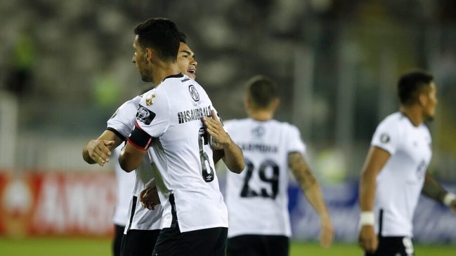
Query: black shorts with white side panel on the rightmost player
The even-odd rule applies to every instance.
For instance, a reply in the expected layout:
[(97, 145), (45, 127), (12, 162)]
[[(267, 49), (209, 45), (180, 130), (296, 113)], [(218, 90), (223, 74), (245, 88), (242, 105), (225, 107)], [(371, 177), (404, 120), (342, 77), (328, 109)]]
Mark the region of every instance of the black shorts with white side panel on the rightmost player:
[(413, 242), (404, 236), (380, 236), (379, 247), (374, 253), (365, 253), (365, 256), (413, 256)]

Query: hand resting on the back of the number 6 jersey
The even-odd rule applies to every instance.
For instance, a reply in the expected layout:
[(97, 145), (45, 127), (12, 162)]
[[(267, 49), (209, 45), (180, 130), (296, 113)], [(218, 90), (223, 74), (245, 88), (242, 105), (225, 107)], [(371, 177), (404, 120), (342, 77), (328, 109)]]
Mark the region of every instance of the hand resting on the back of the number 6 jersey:
[(212, 137), (212, 149), (223, 149), (223, 145), (232, 142), (230, 135), (223, 129), (219, 117), (214, 110), (211, 110), (211, 117), (203, 116), (202, 122), (204, 123), (207, 133)]

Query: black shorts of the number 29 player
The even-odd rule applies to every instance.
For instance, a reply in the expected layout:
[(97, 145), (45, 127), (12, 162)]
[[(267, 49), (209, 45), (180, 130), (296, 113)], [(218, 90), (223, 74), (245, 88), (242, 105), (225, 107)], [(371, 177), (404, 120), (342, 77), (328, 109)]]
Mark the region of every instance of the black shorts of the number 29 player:
[(287, 236), (242, 235), (228, 239), (227, 256), (287, 256)]

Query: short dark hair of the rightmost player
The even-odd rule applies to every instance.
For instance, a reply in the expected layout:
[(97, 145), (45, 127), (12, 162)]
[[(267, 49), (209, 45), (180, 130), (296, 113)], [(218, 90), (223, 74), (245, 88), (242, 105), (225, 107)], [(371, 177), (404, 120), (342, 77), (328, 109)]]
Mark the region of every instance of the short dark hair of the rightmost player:
[(410, 106), (418, 100), (419, 93), (430, 86), (434, 76), (423, 70), (414, 70), (400, 76), (398, 81), (398, 96), (400, 104)]

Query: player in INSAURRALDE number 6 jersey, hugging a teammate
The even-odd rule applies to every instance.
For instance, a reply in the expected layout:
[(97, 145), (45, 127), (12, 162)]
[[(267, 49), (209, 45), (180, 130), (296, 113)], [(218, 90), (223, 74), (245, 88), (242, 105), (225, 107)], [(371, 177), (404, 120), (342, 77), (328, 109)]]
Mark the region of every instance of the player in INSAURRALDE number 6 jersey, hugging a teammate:
[(221, 145), (230, 170), (244, 168), (207, 93), (176, 65), (174, 22), (151, 18), (134, 32), (134, 59), (143, 81), (157, 87), (143, 95), (136, 123), (119, 156), (126, 171), (145, 154), (152, 159), (163, 207), (162, 231), (152, 255), (225, 255), (228, 213), (214, 172), (211, 140)]

